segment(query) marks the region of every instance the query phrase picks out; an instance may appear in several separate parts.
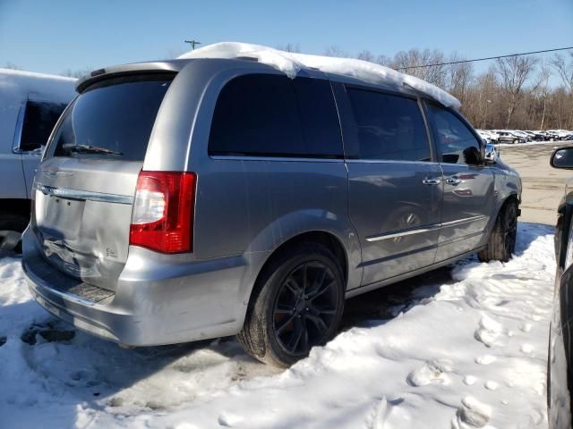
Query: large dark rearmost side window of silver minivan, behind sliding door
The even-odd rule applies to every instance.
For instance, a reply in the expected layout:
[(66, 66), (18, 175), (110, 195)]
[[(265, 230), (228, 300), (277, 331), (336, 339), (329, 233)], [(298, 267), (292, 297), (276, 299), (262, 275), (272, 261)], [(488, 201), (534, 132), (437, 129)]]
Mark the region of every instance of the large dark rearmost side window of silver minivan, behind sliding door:
[(215, 106), (209, 153), (342, 157), (329, 82), (265, 74), (229, 81)]

